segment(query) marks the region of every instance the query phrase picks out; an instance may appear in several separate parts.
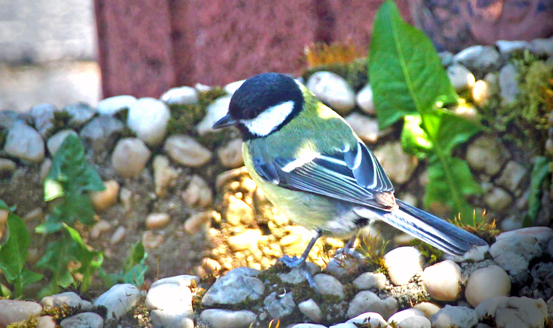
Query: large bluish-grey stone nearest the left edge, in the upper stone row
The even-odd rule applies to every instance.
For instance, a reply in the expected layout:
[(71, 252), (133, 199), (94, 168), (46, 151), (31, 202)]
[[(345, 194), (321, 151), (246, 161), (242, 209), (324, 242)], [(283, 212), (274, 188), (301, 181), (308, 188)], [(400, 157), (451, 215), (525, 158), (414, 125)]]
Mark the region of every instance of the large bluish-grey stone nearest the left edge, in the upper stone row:
[(44, 159), (44, 140), (35, 129), (16, 121), (8, 132), (4, 151), (22, 160), (40, 162)]

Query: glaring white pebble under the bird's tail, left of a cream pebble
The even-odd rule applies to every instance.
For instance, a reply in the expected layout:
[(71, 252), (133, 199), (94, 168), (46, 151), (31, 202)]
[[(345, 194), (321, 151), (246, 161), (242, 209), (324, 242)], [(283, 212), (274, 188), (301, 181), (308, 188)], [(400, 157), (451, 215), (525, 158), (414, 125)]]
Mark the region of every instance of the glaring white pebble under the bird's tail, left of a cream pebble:
[(415, 247), (398, 247), (384, 255), (384, 267), (394, 285), (408, 283), (422, 270), (422, 256)]

